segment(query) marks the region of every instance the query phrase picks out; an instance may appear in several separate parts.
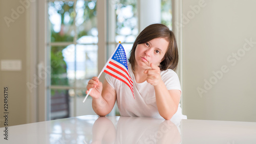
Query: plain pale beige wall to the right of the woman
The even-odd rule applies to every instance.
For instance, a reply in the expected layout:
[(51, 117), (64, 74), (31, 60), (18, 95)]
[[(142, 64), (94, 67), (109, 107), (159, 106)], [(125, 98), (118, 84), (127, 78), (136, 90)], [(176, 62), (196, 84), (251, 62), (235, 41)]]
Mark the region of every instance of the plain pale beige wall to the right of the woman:
[(183, 0), (188, 119), (256, 122), (255, 7), (252, 0)]

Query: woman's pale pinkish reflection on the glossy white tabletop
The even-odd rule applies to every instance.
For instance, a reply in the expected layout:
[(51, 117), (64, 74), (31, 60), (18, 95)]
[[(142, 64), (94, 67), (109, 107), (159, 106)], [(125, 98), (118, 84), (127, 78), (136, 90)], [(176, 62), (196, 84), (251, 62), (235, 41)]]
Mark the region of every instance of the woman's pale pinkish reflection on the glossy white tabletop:
[(177, 126), (171, 121), (120, 117), (116, 127), (105, 117), (93, 125), (92, 143), (180, 143)]

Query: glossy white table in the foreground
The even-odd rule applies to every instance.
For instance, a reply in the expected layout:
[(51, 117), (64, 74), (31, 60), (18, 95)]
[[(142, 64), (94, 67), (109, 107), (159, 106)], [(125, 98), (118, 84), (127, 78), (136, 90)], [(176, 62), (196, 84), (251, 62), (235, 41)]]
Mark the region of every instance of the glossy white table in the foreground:
[[(1, 133), (5, 128), (0, 128)], [(0, 143), (256, 143), (256, 123), (80, 116), (8, 127)]]

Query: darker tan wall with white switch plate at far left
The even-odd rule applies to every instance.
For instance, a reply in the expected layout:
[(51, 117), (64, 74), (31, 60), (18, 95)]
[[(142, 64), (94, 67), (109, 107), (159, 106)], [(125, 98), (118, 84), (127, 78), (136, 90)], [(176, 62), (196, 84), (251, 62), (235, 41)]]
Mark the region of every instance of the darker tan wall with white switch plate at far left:
[[(0, 127), (3, 127), (5, 122), (3, 119), (4, 87), (9, 88), (8, 126), (27, 122), (26, 10), (20, 9), (20, 13), (13, 14), (17, 13), (17, 8), (21, 6), (19, 1), (0, 1), (0, 61), (18, 60), (22, 62), (20, 71), (0, 70)], [(9, 19), (6, 22), (4, 18), (7, 19), (7, 17)]]

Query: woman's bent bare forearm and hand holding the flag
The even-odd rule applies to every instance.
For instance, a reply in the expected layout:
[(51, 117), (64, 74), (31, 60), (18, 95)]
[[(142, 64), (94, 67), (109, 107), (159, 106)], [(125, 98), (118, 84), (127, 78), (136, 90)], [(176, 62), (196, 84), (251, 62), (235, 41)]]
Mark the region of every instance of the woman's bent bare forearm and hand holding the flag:
[(93, 89), (90, 96), (93, 98), (92, 107), (95, 113), (99, 116), (106, 116), (106, 114), (109, 114), (116, 102), (115, 89), (111, 87), (106, 79), (102, 85), (97, 77), (93, 77), (88, 82), (88, 91), (86, 91), (86, 93), (89, 92), (89, 89)]

